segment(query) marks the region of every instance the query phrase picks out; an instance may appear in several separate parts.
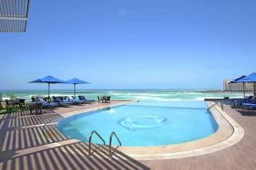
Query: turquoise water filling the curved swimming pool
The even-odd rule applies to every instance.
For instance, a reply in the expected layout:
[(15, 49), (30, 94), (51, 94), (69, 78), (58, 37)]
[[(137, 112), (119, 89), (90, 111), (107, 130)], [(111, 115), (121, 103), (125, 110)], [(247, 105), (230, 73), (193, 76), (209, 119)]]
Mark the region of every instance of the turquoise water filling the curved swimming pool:
[[(136, 102), (82, 113), (64, 118), (58, 128), (84, 141), (97, 130), (108, 143), (115, 131), (123, 146), (162, 146), (211, 136), (218, 124), (204, 101), (172, 101)], [(100, 143), (97, 137), (94, 142)]]

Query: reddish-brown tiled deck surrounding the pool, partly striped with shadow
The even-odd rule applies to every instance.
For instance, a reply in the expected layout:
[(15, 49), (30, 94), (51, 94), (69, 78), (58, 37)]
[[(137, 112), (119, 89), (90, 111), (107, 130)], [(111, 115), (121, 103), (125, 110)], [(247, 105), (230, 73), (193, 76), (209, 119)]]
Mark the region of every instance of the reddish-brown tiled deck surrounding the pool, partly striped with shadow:
[[(122, 101), (113, 101), (111, 105)], [(224, 111), (244, 129), (241, 141), (225, 149), (186, 158), (135, 160), (118, 152), (108, 158), (108, 148), (88, 157), (88, 145), (58, 132), (49, 126), (51, 140), (44, 136), (42, 127), (57, 121), (69, 112), (95, 109), (110, 104), (74, 106), (48, 109), (43, 115), (25, 113), (0, 115), (0, 169), (255, 169), (256, 167), (256, 112), (243, 112), (224, 105)]]

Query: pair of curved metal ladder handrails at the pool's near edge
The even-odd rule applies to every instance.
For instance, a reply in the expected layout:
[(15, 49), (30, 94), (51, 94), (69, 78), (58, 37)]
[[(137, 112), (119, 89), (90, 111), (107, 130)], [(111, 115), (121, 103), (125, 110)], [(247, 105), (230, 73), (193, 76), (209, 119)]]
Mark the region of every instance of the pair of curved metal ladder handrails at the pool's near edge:
[[(103, 142), (103, 145), (98, 144), (98, 146), (97, 146), (96, 148), (92, 149), (92, 139), (93, 139), (93, 137), (94, 137), (94, 134), (95, 134), (97, 137), (99, 137), (99, 139)], [(115, 137), (116, 140), (117, 140), (118, 143), (119, 143), (119, 145), (116, 146), (114, 149), (112, 149), (113, 137)], [(89, 155), (89, 156), (93, 156), (94, 152), (96, 152), (96, 151), (97, 151), (100, 147), (102, 147), (102, 146), (106, 146), (105, 140), (103, 139), (103, 137), (102, 137), (96, 130), (92, 131), (92, 133), (91, 133), (91, 135), (90, 135), (90, 138), (89, 138), (89, 152), (88, 152), (88, 155)], [(109, 146), (108, 146), (108, 147), (109, 147), (109, 157), (110, 157), (110, 158), (113, 156), (114, 152), (117, 150), (117, 148), (118, 148), (119, 146), (122, 146), (122, 143), (121, 143), (119, 137), (117, 137), (116, 133), (115, 133), (115, 132), (112, 132), (112, 133), (110, 134), (110, 137), (109, 137)]]

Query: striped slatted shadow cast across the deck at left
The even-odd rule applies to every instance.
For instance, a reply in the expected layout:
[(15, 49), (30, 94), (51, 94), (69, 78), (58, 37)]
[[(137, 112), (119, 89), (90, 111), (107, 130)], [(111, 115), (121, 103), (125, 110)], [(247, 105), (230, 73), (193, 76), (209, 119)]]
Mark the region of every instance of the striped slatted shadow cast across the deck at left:
[(108, 146), (88, 156), (88, 144), (69, 141), (56, 126), (48, 127), (51, 140), (43, 133), (46, 122), (62, 117), (51, 114), (12, 113), (0, 119), (0, 169), (149, 169), (132, 157), (117, 151), (109, 158)]

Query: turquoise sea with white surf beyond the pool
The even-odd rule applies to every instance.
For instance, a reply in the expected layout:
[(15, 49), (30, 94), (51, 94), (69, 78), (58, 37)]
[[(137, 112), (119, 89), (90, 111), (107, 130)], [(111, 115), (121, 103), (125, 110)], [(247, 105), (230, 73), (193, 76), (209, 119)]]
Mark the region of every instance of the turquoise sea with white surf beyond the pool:
[[(250, 95), (252, 92), (246, 92)], [(31, 100), (34, 96), (48, 95), (47, 90), (0, 90), (0, 98)], [(141, 101), (182, 101), (204, 100), (205, 98), (241, 98), (243, 92), (223, 90), (77, 90), (76, 96), (83, 95), (86, 99), (97, 99), (97, 96), (111, 96), (111, 99), (131, 99)], [(74, 90), (51, 90), (51, 96), (74, 96)]]

